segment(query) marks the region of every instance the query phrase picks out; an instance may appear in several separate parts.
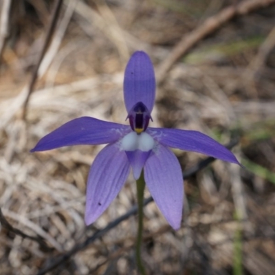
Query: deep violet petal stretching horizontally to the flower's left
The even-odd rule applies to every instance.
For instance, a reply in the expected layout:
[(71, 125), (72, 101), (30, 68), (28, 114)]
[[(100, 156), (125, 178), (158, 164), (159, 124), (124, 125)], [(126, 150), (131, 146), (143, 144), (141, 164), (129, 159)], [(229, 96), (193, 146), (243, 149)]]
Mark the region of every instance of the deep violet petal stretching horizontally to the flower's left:
[(107, 144), (117, 141), (130, 131), (131, 127), (127, 125), (89, 117), (76, 118), (42, 137), (31, 152), (78, 144)]

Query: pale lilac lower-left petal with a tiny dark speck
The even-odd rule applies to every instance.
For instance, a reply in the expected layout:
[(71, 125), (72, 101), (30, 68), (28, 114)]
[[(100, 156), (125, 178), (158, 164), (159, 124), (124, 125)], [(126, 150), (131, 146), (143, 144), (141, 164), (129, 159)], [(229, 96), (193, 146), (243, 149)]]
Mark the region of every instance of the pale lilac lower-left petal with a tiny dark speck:
[(91, 166), (87, 183), (85, 223), (93, 223), (106, 210), (125, 183), (130, 165), (119, 144), (109, 144), (100, 151)]

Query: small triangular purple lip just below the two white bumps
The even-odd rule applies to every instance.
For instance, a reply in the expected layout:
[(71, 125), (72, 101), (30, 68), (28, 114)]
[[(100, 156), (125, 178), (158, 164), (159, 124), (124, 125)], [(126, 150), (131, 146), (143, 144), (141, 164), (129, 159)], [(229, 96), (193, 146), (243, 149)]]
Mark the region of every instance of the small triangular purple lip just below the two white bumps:
[(142, 173), (142, 168), (144, 167), (146, 160), (151, 154), (151, 150), (147, 152), (143, 152), (141, 150), (125, 151), (125, 153), (133, 169), (133, 177), (135, 179), (139, 179), (140, 174)]

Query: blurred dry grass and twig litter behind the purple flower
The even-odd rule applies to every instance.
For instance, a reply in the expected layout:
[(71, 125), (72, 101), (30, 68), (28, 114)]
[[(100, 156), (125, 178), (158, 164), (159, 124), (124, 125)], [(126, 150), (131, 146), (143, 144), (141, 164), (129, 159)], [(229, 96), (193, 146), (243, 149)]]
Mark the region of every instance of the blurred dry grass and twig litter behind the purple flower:
[[(245, 166), (214, 161), (186, 179), (177, 232), (155, 203), (144, 208), (148, 274), (275, 274), (275, 1), (0, 3), (1, 274), (45, 274), (72, 250), (47, 274), (137, 274), (135, 215), (76, 246), (135, 205), (133, 177), (86, 228), (87, 173), (103, 146), (29, 153), (73, 118), (127, 123), (123, 73), (136, 50), (157, 74), (152, 125), (237, 140)], [(174, 152), (183, 170), (206, 158)]]

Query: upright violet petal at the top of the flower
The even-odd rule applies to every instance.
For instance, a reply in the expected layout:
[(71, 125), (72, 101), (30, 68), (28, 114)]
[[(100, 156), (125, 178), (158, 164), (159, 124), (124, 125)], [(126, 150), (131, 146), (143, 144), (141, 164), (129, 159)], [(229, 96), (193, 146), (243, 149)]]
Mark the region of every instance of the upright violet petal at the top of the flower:
[(129, 113), (137, 102), (152, 111), (155, 102), (155, 73), (151, 59), (145, 52), (135, 52), (125, 69), (124, 102)]

